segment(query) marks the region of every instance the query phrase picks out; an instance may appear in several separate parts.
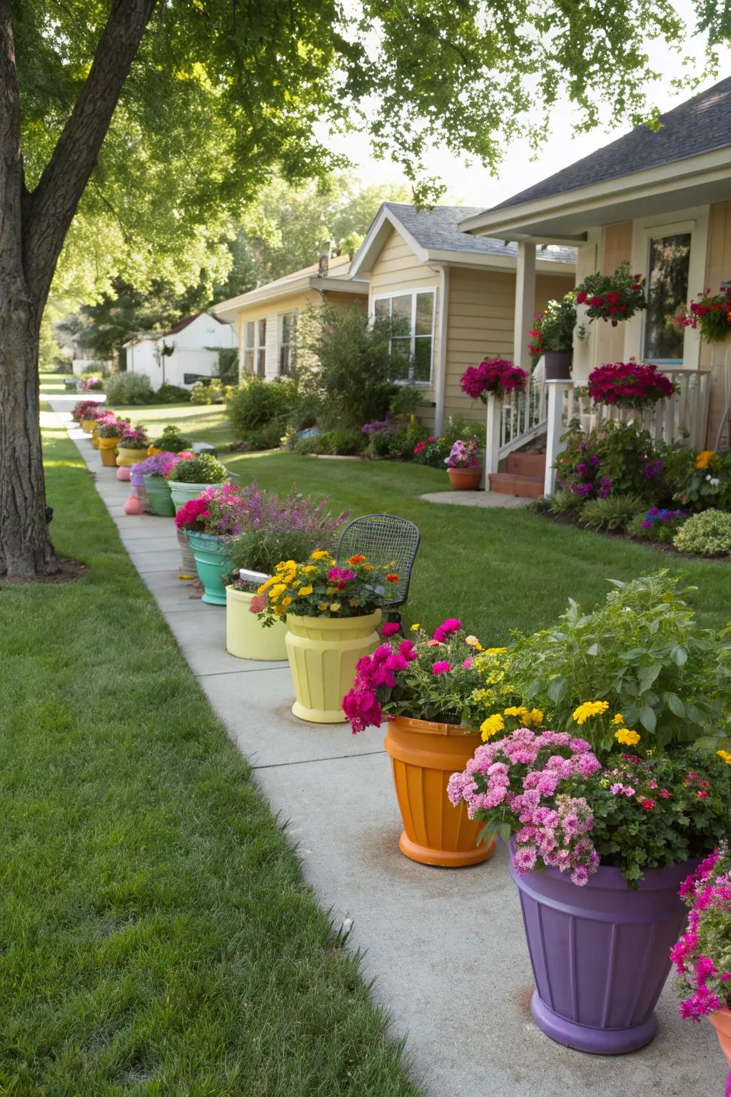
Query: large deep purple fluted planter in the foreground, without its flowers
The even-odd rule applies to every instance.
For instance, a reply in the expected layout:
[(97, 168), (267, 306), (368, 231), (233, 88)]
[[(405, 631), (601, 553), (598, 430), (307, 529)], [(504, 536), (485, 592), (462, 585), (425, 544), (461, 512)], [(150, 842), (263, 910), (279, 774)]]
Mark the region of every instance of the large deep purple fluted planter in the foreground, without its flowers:
[(599, 868), (576, 887), (558, 869), (521, 877), (511, 857), (536, 980), (530, 1010), (551, 1040), (599, 1055), (652, 1040), (670, 950), (686, 919), (677, 889), (697, 864), (648, 869), (631, 891), (619, 869)]

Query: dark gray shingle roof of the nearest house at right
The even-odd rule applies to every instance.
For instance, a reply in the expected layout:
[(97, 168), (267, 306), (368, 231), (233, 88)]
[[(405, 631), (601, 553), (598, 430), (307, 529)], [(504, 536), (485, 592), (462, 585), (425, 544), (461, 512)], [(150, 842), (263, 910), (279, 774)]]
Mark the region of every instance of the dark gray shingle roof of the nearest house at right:
[(648, 126), (638, 126), (583, 160), (480, 213), (551, 197), (731, 145), (731, 77), (661, 114), (660, 121), (662, 129), (653, 132)]

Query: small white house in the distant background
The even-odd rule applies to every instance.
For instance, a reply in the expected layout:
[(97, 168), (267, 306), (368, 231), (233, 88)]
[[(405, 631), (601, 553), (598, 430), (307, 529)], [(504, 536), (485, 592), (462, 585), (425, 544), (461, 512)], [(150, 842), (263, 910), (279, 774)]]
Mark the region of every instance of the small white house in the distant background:
[(127, 372), (146, 374), (156, 391), (162, 384), (190, 388), (218, 373), (219, 349), (236, 347), (230, 324), (209, 313), (195, 313), (159, 332), (140, 332), (125, 344)]

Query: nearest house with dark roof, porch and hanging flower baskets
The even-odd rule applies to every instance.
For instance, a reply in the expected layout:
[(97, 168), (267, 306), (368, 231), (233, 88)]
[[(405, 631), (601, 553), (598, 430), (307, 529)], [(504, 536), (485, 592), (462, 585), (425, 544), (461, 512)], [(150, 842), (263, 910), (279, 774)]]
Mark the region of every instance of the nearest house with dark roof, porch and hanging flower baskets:
[[(675, 437), (689, 430), (693, 444), (712, 449), (728, 428), (731, 343), (701, 343), (698, 331), (678, 327), (673, 317), (706, 287), (718, 293), (731, 279), (731, 78), (661, 115), (660, 123), (656, 132), (639, 126), (500, 205), (468, 215), (460, 227), (478, 239), (521, 241), (518, 307), (526, 315), (542, 298), (534, 264), (547, 242), (579, 249), (578, 281), (630, 260), (632, 272), (648, 280), (650, 307), (616, 328), (584, 319), (573, 380), (585, 380), (603, 362), (655, 362), (682, 388)], [(582, 313), (580, 307), (580, 323)], [(524, 324), (516, 338), (519, 364), (527, 361), (528, 328)], [(666, 415), (665, 437), (669, 420)]]

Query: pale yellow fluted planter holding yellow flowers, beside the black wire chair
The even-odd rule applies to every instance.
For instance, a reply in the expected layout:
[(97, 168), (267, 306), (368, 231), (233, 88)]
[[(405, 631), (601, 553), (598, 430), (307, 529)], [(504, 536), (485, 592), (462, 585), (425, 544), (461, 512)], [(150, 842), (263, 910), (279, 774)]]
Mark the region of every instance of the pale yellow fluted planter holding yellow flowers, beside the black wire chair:
[(357, 618), (287, 614), (287, 658), (296, 701), (292, 711), (312, 724), (345, 720), (343, 698), (355, 680), (355, 664), (379, 643), (380, 610)]

